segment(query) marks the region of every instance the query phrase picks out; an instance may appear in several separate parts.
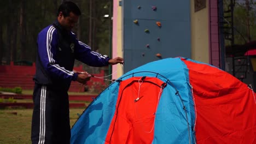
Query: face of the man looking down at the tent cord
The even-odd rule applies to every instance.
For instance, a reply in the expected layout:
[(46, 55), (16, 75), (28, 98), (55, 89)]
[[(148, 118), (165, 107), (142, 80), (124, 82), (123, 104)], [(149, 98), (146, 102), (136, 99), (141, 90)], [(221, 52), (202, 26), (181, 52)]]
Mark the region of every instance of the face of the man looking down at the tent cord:
[(71, 31), (72, 28), (75, 26), (75, 23), (78, 22), (79, 16), (75, 15), (74, 13), (69, 13), (69, 16), (64, 17), (62, 12), (60, 12), (58, 16), (58, 20), (60, 25), (65, 28), (67, 31)]

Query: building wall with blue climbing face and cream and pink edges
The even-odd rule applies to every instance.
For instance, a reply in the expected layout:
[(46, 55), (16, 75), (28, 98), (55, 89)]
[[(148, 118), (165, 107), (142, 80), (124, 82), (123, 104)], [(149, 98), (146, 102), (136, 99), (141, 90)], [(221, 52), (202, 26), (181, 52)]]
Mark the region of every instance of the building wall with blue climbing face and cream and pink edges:
[[(124, 70), (113, 66), (113, 73), (117, 71), (113, 79), (160, 59), (156, 53), (161, 58), (182, 56), (219, 67), (218, 0), (206, 0), (206, 7), (197, 12), (194, 0), (123, 0), (121, 6), (113, 2), (113, 57), (123, 56), (125, 61)], [(156, 21), (161, 22), (161, 28)]]

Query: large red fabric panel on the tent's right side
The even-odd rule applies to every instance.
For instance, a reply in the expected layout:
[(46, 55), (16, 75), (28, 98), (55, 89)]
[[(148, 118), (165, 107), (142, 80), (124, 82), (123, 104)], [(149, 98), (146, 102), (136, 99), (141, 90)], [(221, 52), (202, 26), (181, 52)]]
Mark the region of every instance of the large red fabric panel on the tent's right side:
[(218, 68), (182, 60), (193, 86), (197, 143), (256, 143), (256, 104), (251, 89)]

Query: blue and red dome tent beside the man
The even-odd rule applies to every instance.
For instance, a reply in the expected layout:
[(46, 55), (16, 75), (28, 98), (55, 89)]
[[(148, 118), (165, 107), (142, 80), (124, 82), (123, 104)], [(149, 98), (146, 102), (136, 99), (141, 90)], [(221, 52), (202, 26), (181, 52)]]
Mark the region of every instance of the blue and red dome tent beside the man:
[(211, 65), (161, 59), (99, 94), (71, 129), (71, 143), (255, 143), (255, 95)]

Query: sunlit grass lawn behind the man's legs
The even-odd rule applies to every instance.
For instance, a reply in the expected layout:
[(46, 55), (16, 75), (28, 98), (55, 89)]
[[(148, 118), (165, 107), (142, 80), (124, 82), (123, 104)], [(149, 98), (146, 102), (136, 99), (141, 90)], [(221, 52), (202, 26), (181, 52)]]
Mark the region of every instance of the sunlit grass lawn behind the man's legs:
[[(70, 109), (70, 125), (77, 121), (84, 109)], [(32, 109), (0, 109), (0, 143), (31, 143)]]

